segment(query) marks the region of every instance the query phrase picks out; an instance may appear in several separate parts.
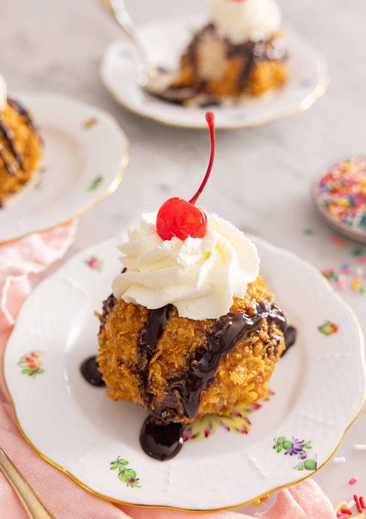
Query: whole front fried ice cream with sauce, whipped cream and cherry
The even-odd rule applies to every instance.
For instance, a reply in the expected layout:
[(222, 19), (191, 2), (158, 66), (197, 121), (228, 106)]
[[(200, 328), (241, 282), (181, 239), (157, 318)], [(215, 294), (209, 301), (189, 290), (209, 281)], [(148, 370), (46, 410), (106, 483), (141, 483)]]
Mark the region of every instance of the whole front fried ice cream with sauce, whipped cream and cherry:
[(124, 269), (98, 315), (107, 395), (147, 409), (140, 443), (160, 460), (180, 450), (183, 424), (265, 397), (285, 350), (286, 319), (258, 275), (256, 246), (195, 206), (214, 160), (214, 114), (206, 119), (212, 151), (198, 192), (128, 231)]

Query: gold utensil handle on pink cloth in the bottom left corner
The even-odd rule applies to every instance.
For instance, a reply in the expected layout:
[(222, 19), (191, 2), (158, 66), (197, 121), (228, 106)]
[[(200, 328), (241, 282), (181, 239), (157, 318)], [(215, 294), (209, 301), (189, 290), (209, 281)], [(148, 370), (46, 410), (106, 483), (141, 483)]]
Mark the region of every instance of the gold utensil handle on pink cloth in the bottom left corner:
[(0, 469), (19, 497), (26, 513), (31, 519), (55, 519), (55, 517), (45, 509), (32, 488), (26, 483), (2, 449), (0, 449)]

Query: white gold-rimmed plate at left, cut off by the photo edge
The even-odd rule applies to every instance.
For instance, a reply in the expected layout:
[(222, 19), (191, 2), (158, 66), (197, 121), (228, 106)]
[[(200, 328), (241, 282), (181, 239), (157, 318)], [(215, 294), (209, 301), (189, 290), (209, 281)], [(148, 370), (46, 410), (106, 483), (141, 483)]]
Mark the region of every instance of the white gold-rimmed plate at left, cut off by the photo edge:
[(13, 92), (34, 112), (45, 142), (35, 182), (0, 210), (0, 244), (66, 223), (119, 186), (129, 141), (109, 114), (75, 99)]

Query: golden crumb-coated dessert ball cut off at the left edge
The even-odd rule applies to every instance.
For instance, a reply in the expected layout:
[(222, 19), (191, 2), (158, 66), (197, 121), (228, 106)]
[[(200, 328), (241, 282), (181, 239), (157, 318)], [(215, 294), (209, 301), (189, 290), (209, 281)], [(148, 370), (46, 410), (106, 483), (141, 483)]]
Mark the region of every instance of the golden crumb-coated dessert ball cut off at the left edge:
[(1, 114), (2, 122), (14, 134), (14, 146), (23, 162), (23, 169), (21, 169), (9, 143), (4, 138), (3, 132), (0, 131), (2, 155), (15, 171), (14, 174), (10, 174), (4, 161), (0, 159), (0, 202), (4, 202), (32, 179), (41, 158), (42, 144), (38, 137), (38, 131), (30, 128), (26, 118), (19, 114), (16, 108), (7, 103)]

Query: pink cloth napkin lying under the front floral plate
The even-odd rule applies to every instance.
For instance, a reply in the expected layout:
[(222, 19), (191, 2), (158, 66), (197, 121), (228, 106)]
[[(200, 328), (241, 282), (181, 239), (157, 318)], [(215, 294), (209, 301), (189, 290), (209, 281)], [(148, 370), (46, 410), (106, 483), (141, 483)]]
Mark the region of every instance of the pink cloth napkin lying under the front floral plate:
[[(0, 247), (0, 361), (18, 310), (30, 293), (30, 275), (59, 260), (74, 240), (77, 223)], [(33, 279), (33, 284), (37, 279)], [(98, 498), (38, 457), (22, 438), (0, 383), (0, 446), (57, 519), (250, 519), (234, 512), (189, 514), (172, 510), (119, 506)], [(0, 519), (27, 519), (17, 496), (0, 471)], [(328, 498), (312, 480), (279, 491), (260, 519), (334, 519)]]

